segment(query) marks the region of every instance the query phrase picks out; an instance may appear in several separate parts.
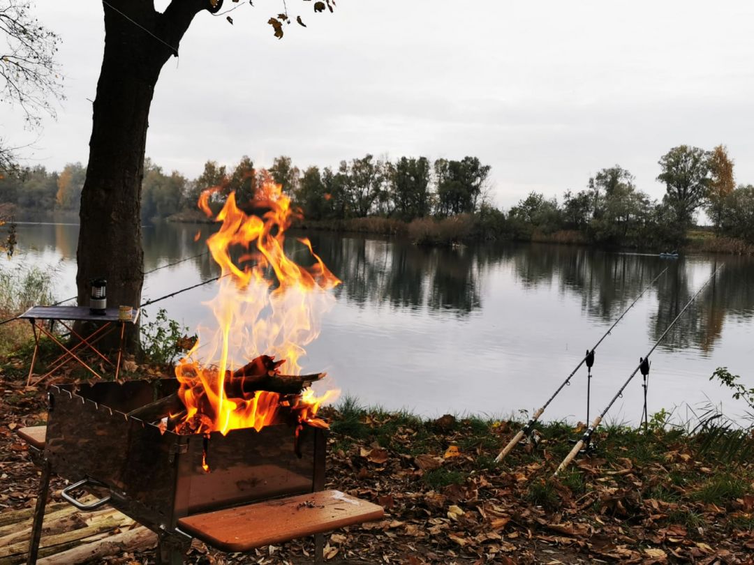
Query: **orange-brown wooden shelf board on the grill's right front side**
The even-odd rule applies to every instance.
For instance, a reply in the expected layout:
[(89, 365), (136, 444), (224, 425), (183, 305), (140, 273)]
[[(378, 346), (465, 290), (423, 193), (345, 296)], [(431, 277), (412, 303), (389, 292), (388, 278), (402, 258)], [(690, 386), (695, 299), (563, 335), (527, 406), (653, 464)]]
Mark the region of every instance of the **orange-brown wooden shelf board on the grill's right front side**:
[(186, 516), (179, 527), (222, 551), (249, 551), (382, 518), (382, 506), (339, 490)]

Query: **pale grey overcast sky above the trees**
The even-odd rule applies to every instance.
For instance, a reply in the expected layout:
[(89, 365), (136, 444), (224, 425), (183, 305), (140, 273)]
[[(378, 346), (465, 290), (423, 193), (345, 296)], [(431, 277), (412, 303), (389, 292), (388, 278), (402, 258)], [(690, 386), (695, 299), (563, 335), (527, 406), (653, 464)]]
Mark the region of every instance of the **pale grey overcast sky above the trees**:
[[(308, 27), (286, 26), (282, 40), (266, 23), (282, 0), (240, 5), (232, 26), (195, 18), (156, 88), (152, 160), (194, 177), (207, 159), (244, 154), (302, 168), (473, 155), (492, 165), (507, 209), (529, 191), (581, 190), (615, 163), (659, 198), (662, 154), (724, 143), (737, 182), (754, 183), (754, 2), (338, 0), (334, 14), (287, 3)], [(60, 170), (87, 161), (103, 8), (36, 5), (63, 38), (67, 99), (25, 151)], [(6, 142), (36, 138), (17, 109), (0, 112)]]

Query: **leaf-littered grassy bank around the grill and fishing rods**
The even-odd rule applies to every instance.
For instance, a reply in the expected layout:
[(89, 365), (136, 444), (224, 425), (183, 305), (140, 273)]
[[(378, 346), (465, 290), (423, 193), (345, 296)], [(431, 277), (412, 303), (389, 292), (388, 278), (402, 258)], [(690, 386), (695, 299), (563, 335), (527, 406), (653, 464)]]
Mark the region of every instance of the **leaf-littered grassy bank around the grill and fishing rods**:
[[(46, 419), (44, 389), (25, 386), (27, 356), (0, 359), (0, 518), (35, 500), (38, 473), (15, 435)], [(161, 376), (153, 366), (136, 371)], [(746, 454), (730, 457), (724, 437), (710, 443), (709, 435), (663, 426), (662, 416), (647, 434), (605, 426), (593, 453), (552, 478), (581, 426), (544, 423), (536, 445), (516, 447), (498, 465), (520, 421), (428, 420), (352, 399), (320, 414), (331, 422), (326, 487), (385, 508), (382, 521), (326, 536), (330, 562), (752, 563), (754, 465)], [(54, 479), (52, 502), (62, 487)], [(304, 563), (311, 549), (297, 540), (261, 548), (254, 559)], [(115, 551), (109, 563), (153, 559), (151, 551)], [(187, 563), (207, 560), (247, 557), (195, 542)]]

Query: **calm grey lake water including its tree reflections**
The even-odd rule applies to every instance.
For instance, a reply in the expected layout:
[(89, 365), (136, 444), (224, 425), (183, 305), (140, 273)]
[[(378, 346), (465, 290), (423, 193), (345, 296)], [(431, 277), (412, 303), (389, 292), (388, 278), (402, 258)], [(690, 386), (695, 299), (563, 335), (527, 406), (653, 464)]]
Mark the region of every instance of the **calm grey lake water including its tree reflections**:
[[(144, 228), (150, 271), (206, 251), (210, 225)], [(197, 231), (202, 237), (195, 242)], [(302, 359), (305, 372), (327, 371), (330, 386), (364, 405), (407, 408), (425, 416), (506, 417), (540, 407), (634, 298), (668, 267), (596, 351), (592, 418), (618, 391), (667, 325), (716, 267), (725, 268), (651, 356), (650, 414), (676, 409), (681, 420), (710, 402), (740, 417), (743, 403), (710, 382), (727, 366), (754, 383), (754, 260), (724, 255), (603, 252), (575, 246), (491, 244), (419, 248), (400, 240), (307, 234), (342, 279), (320, 337)], [(19, 249), (3, 268), (44, 264), (57, 270), (57, 298), (75, 295), (78, 226), (19, 224)], [(290, 238), (292, 243), (293, 238)], [(117, 261), (117, 253), (114, 254)], [(201, 255), (146, 276), (143, 299), (216, 276)], [(201, 286), (158, 307), (189, 328), (207, 320)], [(543, 420), (586, 416), (582, 367)], [(642, 413), (637, 374), (605, 421), (636, 423)]]

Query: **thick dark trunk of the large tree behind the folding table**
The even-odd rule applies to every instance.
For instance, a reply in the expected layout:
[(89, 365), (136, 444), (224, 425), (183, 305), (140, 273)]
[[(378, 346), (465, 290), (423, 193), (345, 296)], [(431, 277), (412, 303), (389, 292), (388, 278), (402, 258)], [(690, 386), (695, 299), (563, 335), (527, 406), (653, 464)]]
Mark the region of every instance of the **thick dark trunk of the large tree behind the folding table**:
[[(109, 307), (141, 302), (141, 184), (149, 108), (160, 71), (193, 17), (210, 0), (173, 0), (164, 14), (151, 0), (103, 3), (105, 53), (81, 191), (78, 304), (88, 304), (90, 280), (107, 279)], [(136, 349), (131, 336), (129, 349)]]

